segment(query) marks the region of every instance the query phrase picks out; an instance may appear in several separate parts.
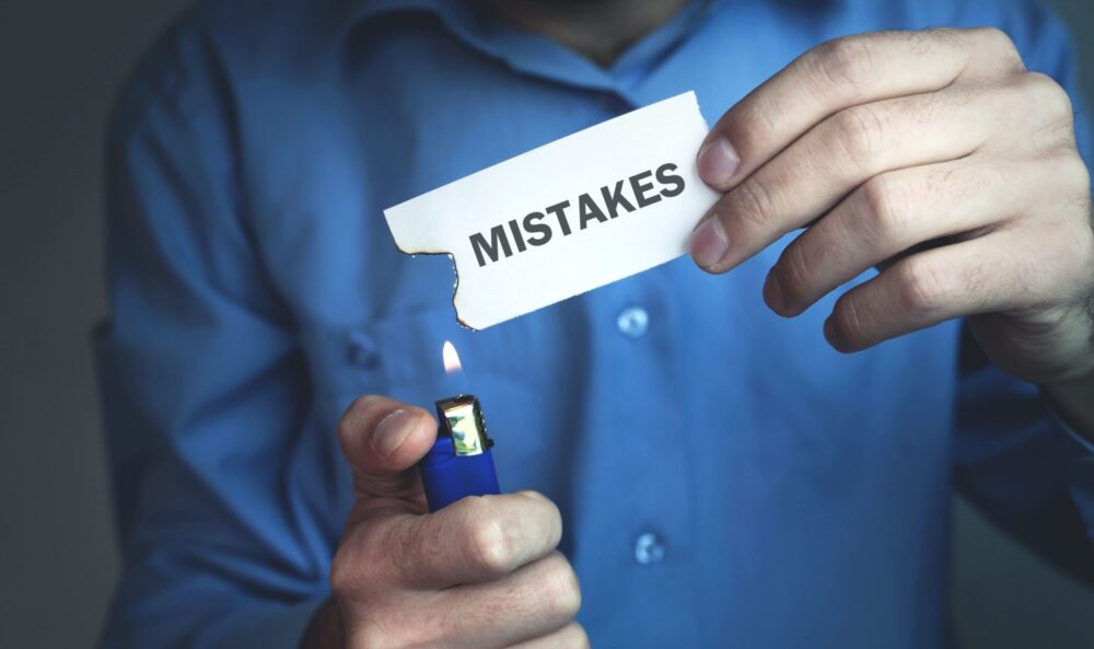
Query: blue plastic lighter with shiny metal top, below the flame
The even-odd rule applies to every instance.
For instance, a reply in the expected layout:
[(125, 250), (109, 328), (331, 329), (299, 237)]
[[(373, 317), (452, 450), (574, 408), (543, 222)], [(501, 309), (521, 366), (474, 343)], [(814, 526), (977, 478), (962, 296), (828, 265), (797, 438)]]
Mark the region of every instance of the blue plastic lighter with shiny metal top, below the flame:
[(430, 511), (465, 496), (499, 494), (486, 422), (478, 399), (462, 394), (437, 402), (437, 441), (418, 464)]

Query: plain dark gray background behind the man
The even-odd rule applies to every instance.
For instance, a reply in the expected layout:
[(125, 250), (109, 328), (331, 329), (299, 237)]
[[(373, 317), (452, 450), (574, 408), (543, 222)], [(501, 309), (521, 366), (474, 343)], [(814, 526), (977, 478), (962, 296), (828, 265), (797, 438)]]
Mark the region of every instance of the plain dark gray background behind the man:
[[(184, 4), (0, 0), (0, 647), (90, 646), (117, 571), (88, 345), (104, 313), (103, 125)], [(1094, 89), (1094, 3), (1055, 4)], [(1094, 595), (956, 511), (967, 646), (1090, 647)]]

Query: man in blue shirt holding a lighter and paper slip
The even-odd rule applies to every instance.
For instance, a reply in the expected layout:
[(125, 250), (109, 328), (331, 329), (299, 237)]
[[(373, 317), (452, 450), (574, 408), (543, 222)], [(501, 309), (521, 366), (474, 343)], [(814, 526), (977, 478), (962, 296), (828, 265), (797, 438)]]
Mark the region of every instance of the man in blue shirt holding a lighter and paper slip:
[[(1094, 577), (1074, 83), (1021, 0), (199, 5), (112, 126), (103, 646), (941, 647), (954, 486)], [(469, 333), (395, 251), (689, 89), (707, 273)], [(445, 339), (515, 492), (427, 514)]]

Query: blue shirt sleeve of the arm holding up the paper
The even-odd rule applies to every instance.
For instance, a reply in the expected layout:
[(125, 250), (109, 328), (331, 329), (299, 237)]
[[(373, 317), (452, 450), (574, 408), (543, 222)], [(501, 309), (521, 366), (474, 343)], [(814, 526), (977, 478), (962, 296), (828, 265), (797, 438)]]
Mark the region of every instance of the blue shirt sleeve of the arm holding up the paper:
[[(967, 4), (967, 3), (966, 3)], [(1071, 95), (1080, 151), (1090, 121), (1067, 28), (1040, 2), (1001, 1), (1000, 26), (1026, 67)], [(1094, 452), (1056, 417), (1037, 386), (993, 367), (967, 327), (955, 441), (957, 488), (1050, 561), (1094, 582)]]

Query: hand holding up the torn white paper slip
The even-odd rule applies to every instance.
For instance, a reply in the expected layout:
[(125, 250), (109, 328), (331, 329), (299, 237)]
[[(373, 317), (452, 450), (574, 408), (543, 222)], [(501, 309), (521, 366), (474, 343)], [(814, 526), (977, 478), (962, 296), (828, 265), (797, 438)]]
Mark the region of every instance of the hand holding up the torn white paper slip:
[(825, 322), (836, 349), (969, 316), (1020, 378), (1094, 380), (1090, 175), (1071, 103), (1002, 32), (821, 45), (731, 108), (698, 165), (725, 193), (693, 240), (705, 269), (807, 228), (768, 274), (776, 313), (880, 268)]

